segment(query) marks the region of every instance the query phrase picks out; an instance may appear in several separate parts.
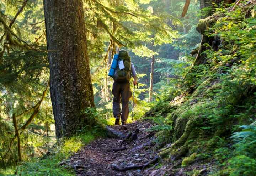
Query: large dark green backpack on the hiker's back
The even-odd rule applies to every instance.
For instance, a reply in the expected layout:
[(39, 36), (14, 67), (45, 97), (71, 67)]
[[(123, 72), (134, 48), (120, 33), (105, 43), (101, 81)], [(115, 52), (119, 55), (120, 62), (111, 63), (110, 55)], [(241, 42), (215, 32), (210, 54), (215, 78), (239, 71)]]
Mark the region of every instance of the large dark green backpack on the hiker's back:
[(116, 72), (114, 74), (114, 81), (118, 83), (127, 83), (131, 78), (131, 61), (130, 56), (128, 55), (126, 50), (119, 51), (118, 61), (123, 61), (124, 69), (120, 70), (117, 64)]

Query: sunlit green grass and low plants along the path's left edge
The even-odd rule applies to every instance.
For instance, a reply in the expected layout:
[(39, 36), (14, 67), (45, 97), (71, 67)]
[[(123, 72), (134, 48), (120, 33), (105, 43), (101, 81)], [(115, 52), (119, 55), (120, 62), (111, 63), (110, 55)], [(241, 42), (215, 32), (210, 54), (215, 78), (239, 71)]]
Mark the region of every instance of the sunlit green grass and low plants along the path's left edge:
[(72, 154), (78, 152), (83, 145), (97, 137), (105, 137), (105, 132), (100, 126), (91, 129), (85, 127), (71, 138), (60, 139), (49, 151), (48, 156), (20, 163), (15, 168), (0, 170), (0, 176), (75, 176), (74, 169), (60, 166), (60, 161), (68, 159)]

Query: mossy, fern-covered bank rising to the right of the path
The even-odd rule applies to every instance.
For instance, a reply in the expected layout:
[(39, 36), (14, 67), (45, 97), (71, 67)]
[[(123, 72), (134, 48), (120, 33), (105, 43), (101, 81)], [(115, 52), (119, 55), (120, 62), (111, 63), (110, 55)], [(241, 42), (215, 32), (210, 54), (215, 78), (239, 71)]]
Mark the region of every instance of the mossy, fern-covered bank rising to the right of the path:
[(208, 46), (206, 64), (187, 73), (182, 86), (192, 91), (151, 108), (148, 116), (156, 123), (151, 130), (158, 131), (159, 146), (167, 146), (161, 156), (182, 158), (182, 166), (214, 160), (216, 176), (255, 175), (256, 128), (250, 125), (256, 120), (255, 11), (253, 4), (231, 12), (218, 8), (206, 35), (221, 43), (218, 51)]

